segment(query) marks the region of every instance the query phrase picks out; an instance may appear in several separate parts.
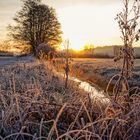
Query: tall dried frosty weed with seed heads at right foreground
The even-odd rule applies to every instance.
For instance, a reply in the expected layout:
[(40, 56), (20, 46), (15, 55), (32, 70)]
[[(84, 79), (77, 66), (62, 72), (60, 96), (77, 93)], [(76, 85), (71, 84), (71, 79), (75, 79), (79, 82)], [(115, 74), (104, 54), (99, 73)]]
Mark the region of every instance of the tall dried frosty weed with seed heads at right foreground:
[(112, 80), (118, 77), (118, 81), (114, 86), (115, 101), (119, 92), (128, 92), (128, 79), (131, 78), (134, 69), (133, 43), (135, 41), (138, 41), (140, 37), (140, 29), (138, 29), (138, 19), (140, 16), (140, 1), (134, 0), (133, 3), (131, 3), (130, 0), (123, 0), (123, 4), (123, 11), (117, 14), (116, 17), (122, 34), (121, 39), (124, 44), (120, 48), (120, 53), (117, 56), (116, 60), (123, 59), (123, 65), (121, 73), (112, 77), (109, 82), (110, 84)]

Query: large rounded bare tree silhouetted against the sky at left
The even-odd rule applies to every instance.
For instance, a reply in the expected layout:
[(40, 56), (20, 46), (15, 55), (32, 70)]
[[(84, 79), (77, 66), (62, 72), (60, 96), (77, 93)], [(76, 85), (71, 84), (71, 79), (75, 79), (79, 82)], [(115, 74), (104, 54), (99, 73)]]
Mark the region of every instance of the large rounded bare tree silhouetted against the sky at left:
[(42, 4), (41, 0), (22, 0), (22, 9), (16, 14), (15, 25), (10, 25), (9, 35), (23, 41), (36, 52), (36, 46), (46, 43), (57, 47), (61, 43), (61, 25), (55, 10)]

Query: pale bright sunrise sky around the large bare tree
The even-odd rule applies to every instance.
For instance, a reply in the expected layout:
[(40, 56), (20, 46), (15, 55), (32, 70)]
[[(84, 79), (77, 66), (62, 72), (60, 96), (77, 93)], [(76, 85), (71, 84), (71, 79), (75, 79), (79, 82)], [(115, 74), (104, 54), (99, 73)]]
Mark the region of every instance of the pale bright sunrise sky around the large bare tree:
[[(80, 49), (84, 44), (121, 44), (120, 31), (115, 21), (122, 9), (122, 0), (43, 0), (56, 9), (71, 47)], [(0, 0), (0, 40), (5, 38), (6, 26), (21, 8), (20, 0)]]

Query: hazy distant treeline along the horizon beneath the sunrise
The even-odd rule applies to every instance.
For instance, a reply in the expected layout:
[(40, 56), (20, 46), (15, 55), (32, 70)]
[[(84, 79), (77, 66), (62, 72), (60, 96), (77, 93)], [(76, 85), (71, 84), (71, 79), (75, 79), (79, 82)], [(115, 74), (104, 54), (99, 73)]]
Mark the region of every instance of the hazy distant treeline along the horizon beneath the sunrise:
[[(114, 58), (119, 53), (120, 47), (121, 46), (119, 45), (102, 46), (102, 47), (98, 46), (89, 49), (86, 48), (81, 51), (75, 51), (73, 49), (69, 49), (69, 55), (72, 58)], [(1, 48), (0, 56), (28, 55), (29, 53), (31, 53), (28, 49), (27, 50), (24, 49), (24, 51), (23, 52), (21, 51), (20, 54), (16, 54), (15, 52), (8, 51), (9, 47), (7, 47), (7, 45), (6, 46), (1, 45), (0, 48)], [(61, 54), (65, 53), (65, 50), (59, 51), (57, 53), (58, 53), (57, 56), (60, 57)], [(134, 47), (134, 53), (135, 53), (135, 58), (140, 59), (140, 47)]]

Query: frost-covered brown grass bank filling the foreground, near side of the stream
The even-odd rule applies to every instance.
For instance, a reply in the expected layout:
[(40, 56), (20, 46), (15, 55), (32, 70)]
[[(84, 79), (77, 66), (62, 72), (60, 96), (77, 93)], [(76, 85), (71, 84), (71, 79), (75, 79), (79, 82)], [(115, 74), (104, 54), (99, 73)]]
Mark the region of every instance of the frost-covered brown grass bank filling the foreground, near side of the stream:
[(130, 104), (122, 96), (100, 108), (75, 83), (65, 89), (51, 65), (35, 59), (1, 65), (0, 75), (0, 139), (140, 138), (138, 95)]

